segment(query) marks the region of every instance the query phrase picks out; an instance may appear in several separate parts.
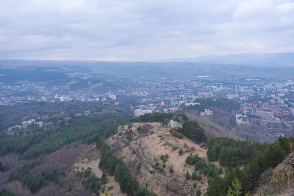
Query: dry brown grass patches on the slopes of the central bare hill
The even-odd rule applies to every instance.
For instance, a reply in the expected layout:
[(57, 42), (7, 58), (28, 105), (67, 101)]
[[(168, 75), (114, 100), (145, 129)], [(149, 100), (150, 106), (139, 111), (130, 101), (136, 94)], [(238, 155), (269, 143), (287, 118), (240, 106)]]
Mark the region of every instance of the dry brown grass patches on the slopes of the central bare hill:
[[(152, 125), (152, 131), (154, 132), (151, 135), (146, 134), (139, 134), (137, 131), (137, 127), (140, 125), (146, 125), (150, 124)], [(124, 130), (127, 130), (127, 126), (125, 125)], [(190, 152), (183, 153), (183, 155), (179, 155), (178, 151), (179, 148), (182, 148), (183, 150), (191, 147), (195, 147), (194, 142), (191, 141), (189, 138), (184, 137), (182, 140), (178, 140), (177, 138), (173, 137), (169, 133), (169, 127), (163, 127), (161, 123), (134, 123), (132, 124), (133, 130), (133, 137), (137, 137), (137, 141), (139, 144), (141, 144), (141, 147), (144, 149), (145, 155), (149, 160), (152, 160), (152, 164), (154, 165), (156, 161), (160, 163), (159, 167), (163, 166), (163, 162), (160, 160), (161, 154), (168, 154), (169, 158), (167, 160), (166, 168), (164, 168), (164, 172), (172, 176), (175, 179), (178, 179), (179, 181), (184, 181), (187, 184), (191, 184), (193, 187), (193, 183), (197, 183), (197, 188), (200, 189), (203, 192), (207, 189), (207, 177), (202, 175), (203, 178), (203, 184), (201, 184), (200, 181), (196, 180), (186, 180), (184, 177), (185, 172), (188, 170), (191, 174), (194, 171), (194, 166), (186, 165), (184, 167), (186, 157), (190, 154)], [(109, 144), (113, 144), (116, 141), (117, 136), (112, 139), (108, 139)], [(187, 147), (184, 147), (184, 143), (187, 144)], [(165, 145), (164, 145), (165, 144)], [(173, 150), (173, 146), (179, 147), (176, 150)], [(198, 154), (200, 157), (203, 157), (205, 160), (207, 160), (206, 150), (204, 149), (195, 149), (192, 154)], [(123, 161), (128, 166), (130, 172), (136, 176), (136, 179), (138, 179), (141, 186), (145, 186), (146, 183), (148, 183), (148, 190), (156, 193), (157, 195), (161, 196), (164, 194), (167, 194), (165, 187), (162, 185), (162, 183), (159, 181), (159, 177), (157, 174), (152, 174), (144, 170), (139, 170), (136, 167), (139, 162), (137, 159), (137, 155), (132, 152), (130, 147), (124, 147), (123, 152), (121, 153), (121, 157), (123, 158)], [(174, 173), (169, 172), (169, 166), (173, 167)], [(196, 192), (195, 189), (195, 192)], [(168, 193), (167, 195), (172, 195), (175, 193)]]

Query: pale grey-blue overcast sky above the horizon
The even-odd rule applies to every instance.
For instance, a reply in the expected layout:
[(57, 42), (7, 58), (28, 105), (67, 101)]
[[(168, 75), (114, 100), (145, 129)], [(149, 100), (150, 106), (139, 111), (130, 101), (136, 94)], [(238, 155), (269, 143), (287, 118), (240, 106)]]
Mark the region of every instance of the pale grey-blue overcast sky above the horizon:
[(0, 0), (0, 58), (294, 51), (294, 0)]

